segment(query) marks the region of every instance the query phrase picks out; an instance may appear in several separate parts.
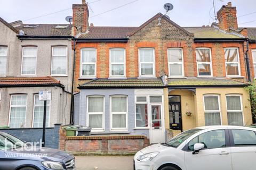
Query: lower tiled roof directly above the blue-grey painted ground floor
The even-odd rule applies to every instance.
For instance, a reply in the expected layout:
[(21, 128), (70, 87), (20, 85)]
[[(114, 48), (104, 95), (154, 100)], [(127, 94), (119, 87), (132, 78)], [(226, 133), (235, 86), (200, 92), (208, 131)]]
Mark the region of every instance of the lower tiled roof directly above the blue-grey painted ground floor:
[(79, 85), (78, 89), (94, 88), (163, 88), (164, 84), (161, 78), (155, 79), (94, 79)]

